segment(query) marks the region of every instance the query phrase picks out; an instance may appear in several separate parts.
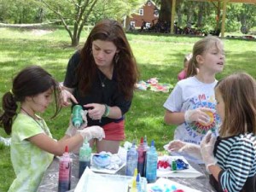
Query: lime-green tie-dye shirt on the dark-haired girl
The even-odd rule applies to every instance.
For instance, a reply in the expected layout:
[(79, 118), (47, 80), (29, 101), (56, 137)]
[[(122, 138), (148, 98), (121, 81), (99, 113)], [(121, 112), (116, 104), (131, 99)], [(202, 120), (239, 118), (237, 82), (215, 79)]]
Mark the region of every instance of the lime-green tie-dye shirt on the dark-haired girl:
[(49, 154), (26, 140), (40, 133), (52, 137), (44, 119), (37, 120), (37, 122), (26, 114), (19, 113), (12, 125), (10, 149), (16, 178), (9, 192), (37, 191), (44, 172), (53, 160), (53, 154)]

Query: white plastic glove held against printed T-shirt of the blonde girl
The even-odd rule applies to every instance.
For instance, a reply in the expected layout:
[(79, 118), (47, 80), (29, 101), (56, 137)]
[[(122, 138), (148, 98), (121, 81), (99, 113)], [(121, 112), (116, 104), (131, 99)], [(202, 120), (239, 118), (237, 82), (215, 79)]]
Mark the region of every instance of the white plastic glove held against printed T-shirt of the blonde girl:
[(197, 121), (201, 124), (207, 124), (210, 121), (210, 116), (207, 113), (215, 113), (212, 108), (195, 108), (184, 113), (184, 118), (187, 123)]

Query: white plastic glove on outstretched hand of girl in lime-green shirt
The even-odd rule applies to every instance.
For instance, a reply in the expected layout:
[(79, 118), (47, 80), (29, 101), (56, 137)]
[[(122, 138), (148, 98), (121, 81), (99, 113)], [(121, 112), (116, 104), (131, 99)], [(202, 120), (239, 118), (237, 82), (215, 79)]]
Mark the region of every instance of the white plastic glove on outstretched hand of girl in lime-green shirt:
[(92, 138), (97, 138), (101, 141), (102, 138), (105, 138), (105, 132), (102, 127), (96, 125), (86, 127), (84, 130), (78, 130), (77, 133), (84, 137), (84, 139), (87, 138), (87, 141), (90, 141)]

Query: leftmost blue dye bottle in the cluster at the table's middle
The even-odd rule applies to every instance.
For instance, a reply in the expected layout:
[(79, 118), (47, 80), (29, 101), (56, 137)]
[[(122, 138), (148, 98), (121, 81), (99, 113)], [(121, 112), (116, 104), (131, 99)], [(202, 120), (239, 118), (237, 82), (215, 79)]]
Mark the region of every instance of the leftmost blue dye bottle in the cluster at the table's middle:
[(134, 170), (137, 169), (137, 149), (135, 148), (135, 141), (133, 141), (131, 148), (127, 151), (126, 155), (126, 176), (133, 176)]

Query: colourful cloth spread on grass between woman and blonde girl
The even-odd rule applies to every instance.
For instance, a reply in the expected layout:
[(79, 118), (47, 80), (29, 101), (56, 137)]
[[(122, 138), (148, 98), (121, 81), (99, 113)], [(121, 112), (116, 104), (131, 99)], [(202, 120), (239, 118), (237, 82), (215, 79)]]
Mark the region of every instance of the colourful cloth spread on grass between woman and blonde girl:
[(164, 92), (167, 93), (169, 92), (170, 89), (173, 89), (172, 84), (166, 84), (166, 83), (159, 83), (158, 78), (151, 78), (148, 79), (147, 81), (139, 81), (136, 84), (137, 89), (139, 90), (153, 90), (157, 92)]

